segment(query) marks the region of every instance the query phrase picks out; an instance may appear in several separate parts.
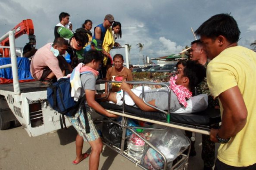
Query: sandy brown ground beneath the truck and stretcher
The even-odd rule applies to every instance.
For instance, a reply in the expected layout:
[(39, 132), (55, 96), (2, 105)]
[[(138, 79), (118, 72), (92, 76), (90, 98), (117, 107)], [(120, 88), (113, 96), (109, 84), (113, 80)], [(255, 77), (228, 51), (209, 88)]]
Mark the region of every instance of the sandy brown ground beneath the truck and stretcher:
[[(75, 136), (73, 127), (61, 129), (53, 133), (29, 137), (22, 127), (0, 131), (0, 170), (88, 170), (89, 159), (73, 165), (75, 158)], [(196, 135), (197, 155), (189, 158), (189, 170), (202, 170), (201, 135)], [(90, 149), (85, 143), (83, 151)], [(109, 147), (101, 154), (99, 169), (101, 170), (133, 170), (141, 169), (118, 155)]]

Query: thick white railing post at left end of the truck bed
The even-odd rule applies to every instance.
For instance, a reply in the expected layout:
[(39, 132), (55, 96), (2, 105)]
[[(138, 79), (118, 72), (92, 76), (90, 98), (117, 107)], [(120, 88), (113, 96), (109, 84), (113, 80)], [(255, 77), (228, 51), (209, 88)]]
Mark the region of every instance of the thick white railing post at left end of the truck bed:
[(8, 68), (11, 67), (13, 72), (13, 88), (15, 94), (21, 94), (19, 90), (19, 80), (18, 80), (18, 68), (17, 68), (17, 57), (16, 57), (16, 49), (15, 49), (15, 37), (14, 32), (9, 31), (5, 35), (0, 38), (0, 42), (5, 40), (9, 36), (9, 43), (10, 43), (10, 56), (11, 56), (11, 64), (2, 65), (1, 68)]

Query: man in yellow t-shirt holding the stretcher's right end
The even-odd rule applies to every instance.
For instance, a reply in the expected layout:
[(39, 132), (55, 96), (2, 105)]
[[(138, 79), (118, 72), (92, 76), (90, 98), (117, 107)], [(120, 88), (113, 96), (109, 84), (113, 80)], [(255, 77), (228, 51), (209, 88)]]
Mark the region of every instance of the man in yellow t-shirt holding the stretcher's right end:
[(207, 83), (221, 106), (221, 128), (210, 131), (221, 143), (215, 170), (255, 170), (256, 53), (238, 46), (240, 30), (227, 14), (211, 17), (195, 33), (211, 59)]

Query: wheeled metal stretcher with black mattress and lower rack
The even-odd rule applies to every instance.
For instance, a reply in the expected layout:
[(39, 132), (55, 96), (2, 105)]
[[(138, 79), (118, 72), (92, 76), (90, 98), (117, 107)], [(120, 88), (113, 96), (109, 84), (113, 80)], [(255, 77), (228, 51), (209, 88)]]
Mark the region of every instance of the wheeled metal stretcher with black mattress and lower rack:
[[(107, 82), (107, 88), (108, 88), (108, 92), (109, 92), (109, 90), (110, 90), (109, 84), (112, 83), (113, 81), (100, 81), (100, 82), (101, 83), (102, 82)], [(120, 83), (120, 82), (115, 82), (115, 83)], [(136, 131), (134, 130), (135, 128), (151, 129), (151, 130), (152, 130), (152, 128), (142, 128), (142, 127), (128, 126), (127, 125), (127, 119), (128, 118), (139, 120), (139, 121), (150, 122), (150, 123), (153, 123), (153, 124), (163, 125), (165, 127), (173, 127), (173, 128), (178, 128), (178, 129), (182, 129), (182, 130), (188, 130), (188, 131), (192, 131), (194, 133), (201, 133), (201, 134), (206, 134), (206, 135), (210, 134), (210, 132), (209, 132), (210, 128), (218, 127), (219, 122), (221, 122), (220, 112), (219, 112), (218, 109), (206, 109), (205, 111), (202, 111), (202, 112), (189, 113), (189, 114), (170, 113), (170, 111), (169, 111), (169, 108), (170, 108), (170, 105), (169, 105), (169, 103), (170, 103), (170, 89), (169, 89), (168, 84), (152, 83), (152, 82), (127, 82), (127, 83), (142, 85), (142, 87), (143, 87), (142, 96), (143, 96), (143, 101), (144, 102), (145, 102), (144, 86), (146, 84), (165, 86), (165, 87), (167, 87), (168, 92), (169, 92), (168, 111), (163, 111), (163, 110), (160, 110), (158, 108), (155, 108), (155, 107), (153, 107), (152, 105), (150, 105), (146, 102), (145, 103), (147, 105), (150, 105), (151, 107), (153, 107), (153, 108), (155, 108), (156, 110), (159, 110), (159, 111), (155, 111), (155, 112), (146, 111), (145, 112), (145, 111), (142, 111), (141, 109), (139, 109), (137, 107), (128, 106), (128, 105), (125, 104), (125, 102), (123, 102), (122, 106), (112, 104), (112, 103), (109, 103), (109, 102), (99, 102), (99, 104), (101, 104), (102, 107), (105, 108), (110, 113), (122, 116), (121, 123), (119, 123), (119, 122), (117, 122), (117, 121), (115, 121), (111, 118), (108, 118), (108, 120), (107, 120), (107, 121), (111, 121), (115, 124), (118, 124), (122, 127), (123, 131), (122, 131), (121, 147), (118, 148), (118, 147), (112, 146), (112, 145), (110, 145), (110, 144), (108, 144), (104, 141), (103, 142), (107, 146), (109, 146), (110, 148), (112, 148), (113, 150), (118, 152), (119, 154), (125, 156), (128, 160), (136, 163), (136, 165), (140, 166), (143, 169), (146, 169), (146, 168), (144, 168), (140, 164), (140, 161), (136, 160), (135, 158), (130, 156), (128, 154), (127, 150), (125, 150), (125, 142), (129, 138), (129, 136), (126, 137), (126, 130), (129, 129), (133, 133), (138, 135), (136, 133)], [(124, 97), (125, 97), (125, 95), (123, 93), (123, 101), (125, 100)], [(96, 123), (102, 122), (102, 121), (103, 120), (95, 120)], [(154, 128), (154, 130), (156, 130), (156, 129)], [(164, 130), (164, 129), (158, 129), (158, 130)], [(142, 138), (142, 137), (140, 137), (140, 138)], [(145, 141), (145, 143), (147, 145), (149, 145), (151, 148), (153, 148), (155, 151), (157, 151), (162, 156), (162, 158), (164, 159), (164, 162), (165, 162), (163, 169), (167, 169), (167, 161), (166, 161), (165, 155), (163, 155), (156, 147), (154, 147), (152, 144), (150, 144), (145, 139), (143, 139), (143, 141)], [(178, 155), (177, 159), (174, 161), (173, 166), (172, 166), (171, 169), (187, 169), (189, 154), (190, 154), (190, 147), (181, 151), (180, 154)]]

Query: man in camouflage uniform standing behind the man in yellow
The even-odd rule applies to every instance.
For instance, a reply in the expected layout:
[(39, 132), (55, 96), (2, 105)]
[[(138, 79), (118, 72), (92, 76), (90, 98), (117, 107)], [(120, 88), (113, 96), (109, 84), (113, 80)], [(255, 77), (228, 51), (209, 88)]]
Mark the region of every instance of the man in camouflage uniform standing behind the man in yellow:
[[(202, 43), (200, 40), (195, 40), (191, 43), (190, 50), (190, 60), (196, 61), (207, 68), (210, 60), (207, 59), (207, 54), (202, 48)], [(208, 108), (219, 108), (218, 99), (213, 99), (210, 93), (209, 87), (207, 85), (207, 78), (205, 77), (201, 83), (197, 86), (197, 94), (207, 94), (208, 95)], [(192, 143), (194, 144), (194, 142)], [(193, 146), (192, 146), (193, 148)], [(193, 152), (193, 151), (192, 151)], [(202, 134), (202, 159), (203, 159), (203, 169), (211, 170), (214, 165), (215, 160), (215, 143), (210, 141), (209, 135)], [(194, 151), (195, 154), (195, 151)]]

